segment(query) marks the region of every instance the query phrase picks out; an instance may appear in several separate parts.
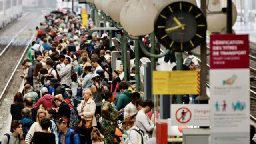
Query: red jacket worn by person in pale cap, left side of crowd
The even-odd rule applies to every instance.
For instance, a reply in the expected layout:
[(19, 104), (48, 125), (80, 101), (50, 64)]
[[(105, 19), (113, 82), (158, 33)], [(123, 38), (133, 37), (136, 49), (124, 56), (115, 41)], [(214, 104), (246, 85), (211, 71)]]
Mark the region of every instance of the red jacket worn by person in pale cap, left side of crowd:
[(47, 108), (54, 108), (54, 102), (53, 102), (54, 96), (50, 94), (44, 95), (42, 98), (40, 98), (37, 102), (36, 105), (34, 106), (34, 109), (38, 110), (39, 106), (42, 104), (44, 106), (44, 109), (46, 110)]

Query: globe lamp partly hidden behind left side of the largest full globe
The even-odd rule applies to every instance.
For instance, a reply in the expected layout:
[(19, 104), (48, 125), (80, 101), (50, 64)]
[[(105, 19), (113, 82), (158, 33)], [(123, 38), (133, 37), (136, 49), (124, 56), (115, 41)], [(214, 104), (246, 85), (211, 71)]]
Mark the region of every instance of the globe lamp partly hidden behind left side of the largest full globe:
[(109, 16), (116, 22), (120, 22), (120, 12), (128, 0), (110, 0), (108, 3)]

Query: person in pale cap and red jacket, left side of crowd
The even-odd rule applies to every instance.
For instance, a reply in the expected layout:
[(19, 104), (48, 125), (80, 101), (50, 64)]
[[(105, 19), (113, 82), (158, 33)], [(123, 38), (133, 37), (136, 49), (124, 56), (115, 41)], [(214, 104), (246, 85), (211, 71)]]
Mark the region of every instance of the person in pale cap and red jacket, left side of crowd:
[(34, 106), (34, 109), (38, 109), (39, 106), (42, 104), (44, 109), (46, 110), (47, 108), (53, 108), (54, 104), (52, 102), (52, 99), (54, 96), (48, 94), (48, 89), (46, 87), (43, 87), (41, 89), (42, 97), (36, 102), (36, 105)]

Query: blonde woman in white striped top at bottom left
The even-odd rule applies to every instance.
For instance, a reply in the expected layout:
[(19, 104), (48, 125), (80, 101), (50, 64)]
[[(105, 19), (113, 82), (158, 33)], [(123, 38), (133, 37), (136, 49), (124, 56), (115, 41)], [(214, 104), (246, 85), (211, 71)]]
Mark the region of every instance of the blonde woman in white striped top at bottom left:
[[(42, 131), (42, 127), (41, 127), (42, 118), (46, 118), (46, 112), (45, 112), (45, 110), (39, 109), (36, 114), (36, 122), (34, 122), (34, 124), (32, 124), (32, 126), (30, 127), (30, 129), (28, 130), (28, 133), (26, 135), (26, 138), (25, 138), (26, 144), (30, 144), (35, 132)], [(48, 128), (48, 131), (50, 132), (50, 128)]]

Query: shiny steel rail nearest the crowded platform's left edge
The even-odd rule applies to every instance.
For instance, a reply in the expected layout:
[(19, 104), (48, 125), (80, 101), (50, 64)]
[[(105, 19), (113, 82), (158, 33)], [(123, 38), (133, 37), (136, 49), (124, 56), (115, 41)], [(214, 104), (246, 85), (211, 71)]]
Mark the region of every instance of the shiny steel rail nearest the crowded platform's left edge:
[(14, 74), (16, 73), (17, 68), (20, 66), (20, 62), (22, 61), (24, 55), (26, 54), (26, 52), (27, 52), (27, 50), (28, 50), (28, 47), (30, 46), (30, 43), (32, 42), (32, 40), (33, 40), (33, 38), (35, 37), (35, 35), (36, 35), (36, 32), (34, 32), (34, 34), (32, 35), (32, 37), (31, 37), (31, 39), (29, 40), (29, 42), (28, 42), (28, 44), (27, 44), (27, 46), (26, 46), (24, 52), (22, 53), (22, 55), (21, 55), (21, 57), (20, 57), (20, 60), (18, 61), (16, 67), (14, 68), (14, 70), (13, 70), (13, 72), (12, 72), (12, 75), (10, 76), (10, 78), (9, 78), (9, 80), (8, 80), (8, 82), (7, 82), (7, 84), (6, 84), (5, 87), (4, 87), (4, 90), (2, 91), (2, 93), (1, 93), (1, 95), (0, 95), (0, 100), (2, 100), (2, 97), (4, 96), (5, 91), (7, 90), (7, 88), (8, 88), (8, 86), (9, 86), (9, 84), (10, 84), (10, 82), (11, 82), (11, 80), (12, 80)]

